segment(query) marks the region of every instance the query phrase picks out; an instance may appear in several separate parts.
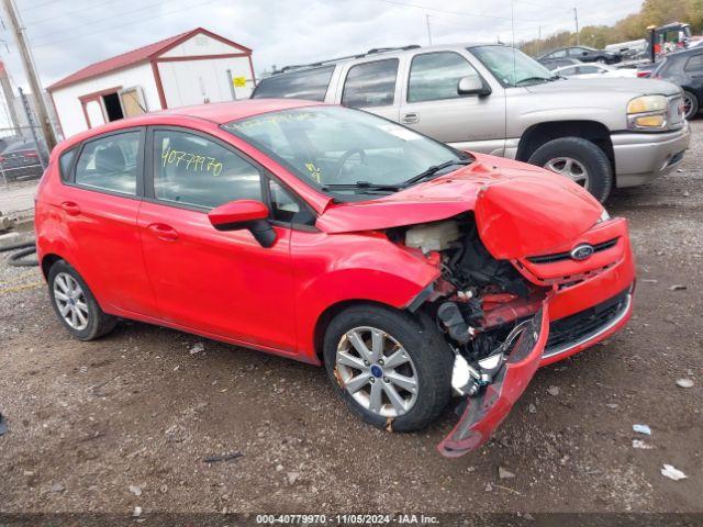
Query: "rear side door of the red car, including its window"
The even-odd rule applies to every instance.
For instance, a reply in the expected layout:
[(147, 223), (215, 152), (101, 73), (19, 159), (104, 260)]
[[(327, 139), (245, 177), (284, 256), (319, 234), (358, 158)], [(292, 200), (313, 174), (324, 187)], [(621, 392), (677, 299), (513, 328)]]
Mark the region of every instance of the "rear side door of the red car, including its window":
[(136, 226), (145, 135), (145, 128), (127, 128), (86, 142), (51, 197), (72, 245), (69, 264), (114, 314), (155, 311)]

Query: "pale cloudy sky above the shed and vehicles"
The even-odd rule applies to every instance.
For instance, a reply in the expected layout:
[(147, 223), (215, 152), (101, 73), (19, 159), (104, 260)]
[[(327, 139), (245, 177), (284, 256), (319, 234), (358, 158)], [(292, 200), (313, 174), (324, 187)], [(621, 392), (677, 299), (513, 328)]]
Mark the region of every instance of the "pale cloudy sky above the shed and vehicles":
[[(202, 26), (254, 49), (257, 74), (373, 47), (511, 43), (611, 24), (641, 0), (14, 0), (43, 86), (91, 63)], [(511, 12), (514, 23), (511, 21)], [(5, 27), (0, 59), (16, 88), (24, 71)], [(2, 121), (0, 112), (0, 121)]]

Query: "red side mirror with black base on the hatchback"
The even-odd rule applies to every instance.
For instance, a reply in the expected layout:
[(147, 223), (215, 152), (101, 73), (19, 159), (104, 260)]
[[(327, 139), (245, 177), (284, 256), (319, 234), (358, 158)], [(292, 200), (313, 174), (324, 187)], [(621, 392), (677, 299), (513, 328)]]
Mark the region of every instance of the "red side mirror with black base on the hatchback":
[(208, 218), (217, 231), (248, 229), (261, 247), (270, 247), (276, 242), (276, 231), (268, 223), (268, 209), (260, 201), (230, 201), (210, 211)]

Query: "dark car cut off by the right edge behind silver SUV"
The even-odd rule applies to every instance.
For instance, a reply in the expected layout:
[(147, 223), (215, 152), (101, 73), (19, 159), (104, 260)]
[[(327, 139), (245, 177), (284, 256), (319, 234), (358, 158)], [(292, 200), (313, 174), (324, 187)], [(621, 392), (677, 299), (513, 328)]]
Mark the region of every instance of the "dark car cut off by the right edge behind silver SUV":
[(694, 119), (703, 106), (703, 47), (667, 55), (652, 78), (668, 80), (683, 90), (683, 115)]

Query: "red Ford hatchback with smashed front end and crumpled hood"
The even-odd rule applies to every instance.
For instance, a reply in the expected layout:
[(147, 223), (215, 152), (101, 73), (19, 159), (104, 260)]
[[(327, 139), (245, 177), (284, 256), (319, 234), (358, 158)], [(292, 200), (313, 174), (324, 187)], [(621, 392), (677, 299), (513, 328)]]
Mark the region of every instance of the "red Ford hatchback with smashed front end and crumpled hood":
[(76, 338), (134, 318), (324, 365), (354, 413), (398, 431), (454, 393), (467, 411), (446, 456), (486, 441), (539, 365), (632, 311), (626, 221), (573, 181), (315, 102), (175, 109), (67, 139), (35, 228)]

